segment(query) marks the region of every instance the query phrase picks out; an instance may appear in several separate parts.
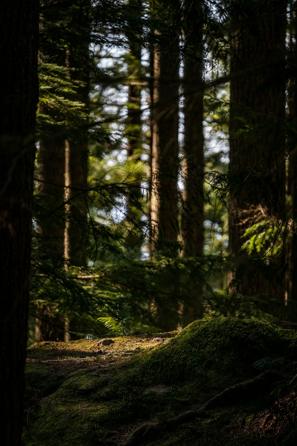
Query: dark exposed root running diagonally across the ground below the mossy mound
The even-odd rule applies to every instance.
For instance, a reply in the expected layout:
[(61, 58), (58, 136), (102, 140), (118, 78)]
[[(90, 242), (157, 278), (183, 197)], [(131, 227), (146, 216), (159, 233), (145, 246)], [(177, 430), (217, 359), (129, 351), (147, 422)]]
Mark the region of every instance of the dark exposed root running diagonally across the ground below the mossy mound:
[(246, 402), (256, 396), (260, 396), (261, 394), (264, 394), (275, 381), (279, 381), (280, 379), (283, 379), (283, 377), (284, 376), (281, 373), (276, 372), (275, 370), (263, 372), (255, 378), (243, 381), (223, 390), (223, 392), (213, 396), (197, 410), (188, 410), (187, 412), (180, 413), (177, 417), (155, 424), (143, 424), (132, 432), (122, 446), (137, 446), (153, 442), (160, 438), (161, 434), (172, 432), (183, 423), (193, 421), (197, 417), (204, 417), (207, 410), (224, 407), (226, 405), (235, 405), (242, 401)]

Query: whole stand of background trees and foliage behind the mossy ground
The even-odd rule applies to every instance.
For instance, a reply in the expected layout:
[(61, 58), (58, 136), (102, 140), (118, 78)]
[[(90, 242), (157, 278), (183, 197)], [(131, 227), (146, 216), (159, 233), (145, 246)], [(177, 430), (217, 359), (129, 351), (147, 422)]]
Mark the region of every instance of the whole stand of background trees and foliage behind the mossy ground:
[[(74, 284), (108, 312), (123, 295), (132, 313), (165, 330), (205, 309), (251, 314), (255, 295), (283, 305), (295, 258), (286, 214), (295, 194), (294, 138), (284, 124), (287, 63), (293, 129), (286, 2), (47, 0), (41, 14), (33, 281), (44, 282), (34, 299), (54, 296), (54, 308), (67, 312)], [(293, 21), (290, 32), (293, 48)], [(228, 202), (229, 242), (218, 200), (220, 217)], [(111, 285), (120, 260), (129, 273)], [(232, 291), (248, 297), (240, 310), (227, 270)]]

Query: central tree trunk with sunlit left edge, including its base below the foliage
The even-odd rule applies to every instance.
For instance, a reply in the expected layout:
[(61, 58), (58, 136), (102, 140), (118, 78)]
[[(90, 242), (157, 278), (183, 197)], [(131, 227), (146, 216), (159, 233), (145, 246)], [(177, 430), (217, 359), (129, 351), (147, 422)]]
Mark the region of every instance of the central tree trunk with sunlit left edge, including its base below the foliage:
[[(152, 2), (155, 17), (151, 107), (151, 228), (155, 256), (176, 255), (179, 234), (179, 0)], [(156, 326), (170, 330), (179, 320), (177, 297), (156, 299)]]

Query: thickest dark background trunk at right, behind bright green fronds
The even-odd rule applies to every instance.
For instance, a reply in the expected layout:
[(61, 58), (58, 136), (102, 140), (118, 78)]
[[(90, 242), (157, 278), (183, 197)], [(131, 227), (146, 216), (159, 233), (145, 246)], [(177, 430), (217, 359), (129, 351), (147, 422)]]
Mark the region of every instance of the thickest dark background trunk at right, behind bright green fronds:
[(281, 285), (271, 285), (256, 268), (248, 270), (241, 245), (253, 223), (285, 216), (286, 5), (240, 5), (233, 16), (230, 70), (229, 252), (240, 259), (241, 293), (281, 299)]

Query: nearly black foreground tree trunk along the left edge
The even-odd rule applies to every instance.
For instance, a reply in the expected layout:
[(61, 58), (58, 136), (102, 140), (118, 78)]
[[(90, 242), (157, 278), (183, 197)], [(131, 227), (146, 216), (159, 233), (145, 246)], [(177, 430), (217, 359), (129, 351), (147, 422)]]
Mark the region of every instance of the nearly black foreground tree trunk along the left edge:
[(1, 438), (21, 444), (32, 230), (39, 2), (1, 8)]

